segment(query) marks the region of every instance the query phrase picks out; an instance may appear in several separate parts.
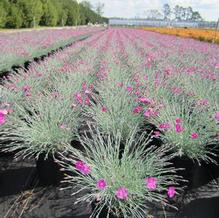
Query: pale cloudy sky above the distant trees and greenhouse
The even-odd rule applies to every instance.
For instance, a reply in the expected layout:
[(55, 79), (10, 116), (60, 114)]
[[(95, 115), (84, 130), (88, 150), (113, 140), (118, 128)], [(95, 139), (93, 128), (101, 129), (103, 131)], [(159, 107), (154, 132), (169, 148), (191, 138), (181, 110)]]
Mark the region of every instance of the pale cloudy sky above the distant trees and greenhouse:
[(98, 2), (104, 3), (104, 15), (106, 17), (145, 17), (146, 11), (151, 9), (162, 10), (162, 6), (168, 3), (170, 6), (191, 6), (198, 10), (202, 17), (208, 21), (216, 21), (219, 18), (219, 0), (89, 0), (92, 5)]

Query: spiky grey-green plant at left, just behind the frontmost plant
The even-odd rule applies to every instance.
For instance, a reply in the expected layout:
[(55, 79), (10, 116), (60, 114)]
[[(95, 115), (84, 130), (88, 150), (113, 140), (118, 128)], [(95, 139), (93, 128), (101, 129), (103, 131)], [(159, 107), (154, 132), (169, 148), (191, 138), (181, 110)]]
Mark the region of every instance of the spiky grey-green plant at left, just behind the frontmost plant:
[(47, 157), (65, 150), (74, 140), (80, 108), (72, 108), (70, 100), (52, 96), (42, 96), (35, 103), (28, 110), (16, 105), (16, 111), (7, 114), (1, 136), (2, 141), (10, 141), (4, 145), (6, 151)]

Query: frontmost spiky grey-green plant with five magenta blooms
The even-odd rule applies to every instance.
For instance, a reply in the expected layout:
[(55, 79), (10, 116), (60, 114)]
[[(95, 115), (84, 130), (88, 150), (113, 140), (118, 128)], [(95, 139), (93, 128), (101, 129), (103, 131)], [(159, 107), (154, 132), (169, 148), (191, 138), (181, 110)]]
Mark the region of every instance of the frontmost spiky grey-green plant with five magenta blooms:
[[(164, 147), (147, 147), (142, 134), (136, 138), (136, 128), (125, 142), (120, 158), (121, 133), (103, 135), (90, 129), (91, 137), (80, 137), (84, 151), (71, 149), (59, 164), (66, 172), (65, 188), (77, 187), (77, 202), (90, 202), (90, 217), (146, 217), (148, 203), (168, 205), (168, 198), (177, 194), (176, 169), (172, 155)], [(73, 176), (72, 176), (73, 174)], [(77, 203), (76, 202), (76, 203)]]

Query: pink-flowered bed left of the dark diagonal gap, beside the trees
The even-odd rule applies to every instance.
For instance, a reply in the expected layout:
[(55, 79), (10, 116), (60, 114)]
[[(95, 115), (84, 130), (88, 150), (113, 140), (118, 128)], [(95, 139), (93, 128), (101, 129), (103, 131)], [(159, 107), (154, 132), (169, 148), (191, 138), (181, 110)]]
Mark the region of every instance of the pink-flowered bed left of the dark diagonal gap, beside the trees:
[(0, 34), (0, 72), (83, 39), (101, 28), (62, 28)]

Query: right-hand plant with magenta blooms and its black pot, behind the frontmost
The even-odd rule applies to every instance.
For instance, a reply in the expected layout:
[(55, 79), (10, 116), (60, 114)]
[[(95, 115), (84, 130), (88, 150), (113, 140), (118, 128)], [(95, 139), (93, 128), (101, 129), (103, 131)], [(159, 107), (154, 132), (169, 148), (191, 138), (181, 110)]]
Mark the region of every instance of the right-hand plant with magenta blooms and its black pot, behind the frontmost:
[[(194, 102), (179, 98), (163, 99), (163, 107), (157, 117), (150, 118), (159, 131), (165, 146), (176, 155), (173, 163), (186, 180), (188, 188), (199, 187), (211, 179), (208, 168), (216, 163), (217, 129), (215, 108), (195, 106)], [(208, 177), (208, 178), (206, 178)]]

